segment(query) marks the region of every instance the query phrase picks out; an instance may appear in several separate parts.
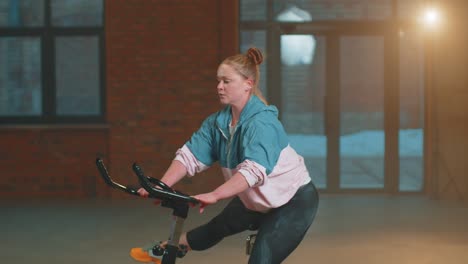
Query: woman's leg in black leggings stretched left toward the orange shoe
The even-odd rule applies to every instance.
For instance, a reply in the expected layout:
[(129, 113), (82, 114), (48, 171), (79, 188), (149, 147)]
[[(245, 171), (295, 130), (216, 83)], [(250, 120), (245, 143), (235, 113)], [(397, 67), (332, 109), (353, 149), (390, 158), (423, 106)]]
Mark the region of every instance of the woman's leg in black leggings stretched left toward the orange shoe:
[(193, 250), (205, 250), (227, 236), (258, 226), (264, 216), (265, 214), (246, 209), (240, 199), (235, 197), (219, 215), (207, 224), (189, 231), (182, 239), (186, 239), (189, 248)]

